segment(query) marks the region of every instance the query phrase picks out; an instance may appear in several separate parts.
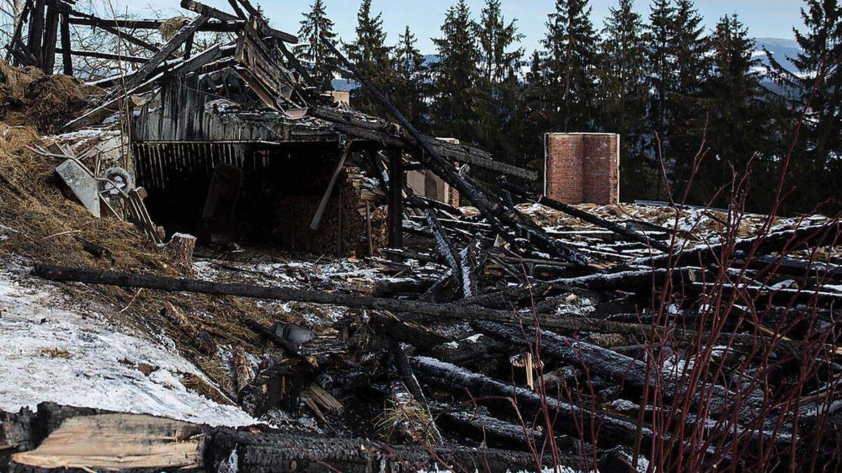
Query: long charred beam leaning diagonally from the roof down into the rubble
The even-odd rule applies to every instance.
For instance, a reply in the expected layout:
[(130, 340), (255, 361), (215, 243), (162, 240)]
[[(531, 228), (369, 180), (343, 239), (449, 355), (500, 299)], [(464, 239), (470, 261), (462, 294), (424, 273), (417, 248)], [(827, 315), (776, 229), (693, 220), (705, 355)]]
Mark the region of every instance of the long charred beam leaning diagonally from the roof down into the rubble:
[(466, 179), (461, 178), (461, 176), (453, 171), (450, 164), (442, 159), (439, 153), (424, 141), (424, 136), (421, 135), (421, 133), (418, 132), (411, 123), (409, 123), (406, 117), (404, 117), (394, 105), (392, 105), (392, 102), (390, 102), (389, 99), (380, 92), (380, 90), (369, 82), (366, 77), (363, 77), (357, 70), (356, 66), (348, 61), (348, 58), (339, 52), (330, 40), (322, 38), (322, 44), (331, 50), (333, 55), (337, 57), (337, 59), (349, 70), (349, 72), (351, 72), (354, 77), (360, 81), (360, 83), (363, 84), (363, 87), (369, 90), (370, 93), (372, 93), (377, 100), (389, 110), (389, 113), (392, 114), (400, 125), (402, 125), (404, 130), (407, 130), (409, 136), (413, 137), (413, 140), (418, 144), (418, 146), (421, 146), (424, 153), (419, 158), (422, 162), (424, 162), (424, 165), (433, 171), (433, 173), (438, 175), (443, 181), (445, 181), (445, 183), (448, 183), (451, 187), (458, 190), (461, 196), (465, 197), (474, 206), (476, 206), (477, 210), (480, 211), (488, 223), (495, 227), (498, 235), (514, 246), (520, 246), (517, 239), (509, 235), (508, 231), (504, 230), (504, 227), (508, 227), (516, 234), (525, 237), (525, 239), (529, 242), (541, 248), (541, 250), (549, 252), (553, 257), (570, 261), (571, 263), (578, 264), (579, 266), (587, 266), (591, 263), (590, 258), (572, 247), (553, 241), (546, 235), (546, 232), (541, 231), (541, 229), (523, 226), (523, 222), (516, 218), (516, 216), (511, 215), (509, 211), (497, 201), (489, 198), (488, 195), (484, 194), (481, 189), (477, 189), (476, 186), (468, 183)]

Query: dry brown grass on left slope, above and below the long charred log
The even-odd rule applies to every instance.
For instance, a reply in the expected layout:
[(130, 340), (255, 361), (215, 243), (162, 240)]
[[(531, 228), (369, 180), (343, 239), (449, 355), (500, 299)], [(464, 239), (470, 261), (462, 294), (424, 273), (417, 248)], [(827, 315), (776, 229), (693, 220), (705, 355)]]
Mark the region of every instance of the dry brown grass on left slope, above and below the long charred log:
[[(82, 205), (67, 199), (54, 173), (60, 162), (29, 151), (27, 145), (43, 146), (45, 142), (31, 126), (0, 123), (0, 222), (14, 230), (0, 241), (0, 258), (189, 277), (173, 268), (163, 247), (149, 242), (131, 224), (95, 218)], [(85, 252), (78, 238), (107, 248), (112, 257), (97, 258)], [(102, 307), (109, 322), (123, 330), (150, 337), (165, 333), (185, 359), (218, 385), (232, 385), (229, 369), (218, 357), (201, 353), (195, 337), (161, 313), (164, 300), (178, 307), (200, 330), (213, 334), (220, 347), (240, 346), (249, 353), (266, 349), (265, 343), (242, 324), (247, 318), (271, 323), (252, 300), (152, 290), (137, 294), (136, 290), (83, 284), (63, 284), (62, 289), (79, 306)]]

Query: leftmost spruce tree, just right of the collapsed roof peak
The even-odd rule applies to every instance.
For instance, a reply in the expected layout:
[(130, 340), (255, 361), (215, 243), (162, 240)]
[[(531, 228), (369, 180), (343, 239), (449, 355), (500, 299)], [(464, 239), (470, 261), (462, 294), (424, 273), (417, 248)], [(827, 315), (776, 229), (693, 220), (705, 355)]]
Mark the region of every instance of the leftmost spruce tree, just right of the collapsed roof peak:
[(338, 60), (322, 44), (322, 37), (336, 44), (336, 34), (333, 33), (333, 21), (328, 18), (322, 0), (316, 0), (310, 11), (304, 13), (298, 37), (301, 44), (295, 48), (296, 56), (307, 63), (310, 75), (319, 87), (323, 90), (333, 89)]

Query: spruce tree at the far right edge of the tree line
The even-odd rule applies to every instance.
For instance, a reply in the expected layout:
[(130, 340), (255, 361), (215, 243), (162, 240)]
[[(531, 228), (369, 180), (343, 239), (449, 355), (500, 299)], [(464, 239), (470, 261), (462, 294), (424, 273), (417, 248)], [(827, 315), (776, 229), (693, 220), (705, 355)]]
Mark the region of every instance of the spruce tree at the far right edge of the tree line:
[(800, 110), (813, 96), (789, 168), (788, 184), (796, 191), (788, 208), (808, 211), (807, 202), (829, 200), (827, 210), (833, 212), (842, 209), (842, 5), (838, 0), (806, 0), (801, 14), (804, 29), (794, 30), (802, 52), (790, 58), (797, 71), (787, 71), (766, 51), (770, 75), (791, 96), (789, 106), (781, 109), (781, 114), (789, 112), (789, 139)]

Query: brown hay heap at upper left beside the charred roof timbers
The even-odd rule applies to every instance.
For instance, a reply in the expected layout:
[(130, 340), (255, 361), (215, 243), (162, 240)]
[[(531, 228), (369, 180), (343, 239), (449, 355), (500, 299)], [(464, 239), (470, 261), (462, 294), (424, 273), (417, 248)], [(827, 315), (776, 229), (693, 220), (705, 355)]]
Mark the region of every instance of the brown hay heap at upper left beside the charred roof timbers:
[(8, 125), (56, 133), (101, 93), (75, 77), (47, 76), (35, 67), (19, 69), (0, 61), (0, 121)]

